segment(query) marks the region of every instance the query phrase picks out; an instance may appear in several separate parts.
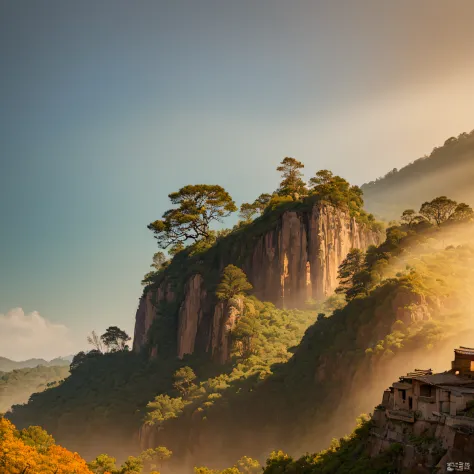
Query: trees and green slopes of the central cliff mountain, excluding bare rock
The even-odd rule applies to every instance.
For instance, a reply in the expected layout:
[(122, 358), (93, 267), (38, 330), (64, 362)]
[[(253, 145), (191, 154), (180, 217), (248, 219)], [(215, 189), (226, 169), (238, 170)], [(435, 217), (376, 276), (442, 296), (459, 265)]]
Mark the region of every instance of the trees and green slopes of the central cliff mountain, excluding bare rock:
[[(210, 228), (236, 206), (223, 188), (209, 185), (186, 186), (172, 193), (170, 199), (178, 207), (149, 226), (162, 248), (171, 246), (173, 258), (169, 261), (162, 253), (155, 254), (154, 271), (143, 282), (145, 291), (166, 277), (176, 294), (185, 286), (185, 278), (193, 273), (210, 276), (206, 291), (226, 318), (221, 326), (225, 332), (220, 336), (221, 344), (228, 344), (226, 360), (216, 363), (200, 351), (178, 359), (179, 301), (161, 305), (160, 317), (151, 321), (150, 332), (139, 350), (130, 353), (117, 345), (113, 352), (104, 351), (97, 341), (94, 350), (76, 355), (68, 379), (58, 387), (33, 395), (27, 405), (15, 406), (8, 416), (20, 427), (40, 424), (84, 456), (95, 456), (101, 451), (128, 455), (140, 450), (138, 433), (143, 430), (144, 417), (149, 426), (156, 421), (153, 413), (147, 413), (147, 404), (166, 404), (166, 396), (180, 393), (175, 387), (179, 369), (189, 367), (195, 374), (193, 387), (199, 384), (199, 388), (192, 390), (193, 403), (202, 410), (213, 405), (218, 391), (229, 388), (245, 393), (270, 376), (278, 364), (289, 359), (292, 348), (317, 319), (318, 312), (330, 314), (340, 305), (341, 298), (330, 298), (325, 304), (311, 298), (306, 302), (301, 299), (299, 310), (277, 308), (253, 295), (257, 282), (249, 281), (241, 268), (229, 264), (220, 270), (219, 262), (233, 253), (238, 265), (242, 255), (235, 254), (237, 250), (251, 254), (255, 239), (275, 227), (283, 214), (292, 212), (299, 221), (298, 212), (312, 209), (315, 203), (326, 203), (326, 212), (346, 216), (344, 226), (360, 226), (375, 235), (380, 233), (380, 225), (363, 210), (356, 186), (329, 171), (316, 173), (307, 185), (302, 179), (302, 168), (297, 160), (285, 158), (278, 167), (282, 173), (278, 189), (272, 195), (262, 194), (253, 203), (242, 204), (241, 220), (233, 229), (217, 233)], [(306, 265), (303, 261), (295, 263)], [(258, 270), (257, 266), (256, 277)], [(276, 274), (278, 281), (279, 273), (280, 270)], [(283, 275), (283, 281), (284, 278)], [(264, 281), (265, 275), (261, 279)], [(306, 273), (302, 282), (306, 285)], [(198, 318), (196, 309), (189, 314)], [(153, 351), (154, 347), (157, 350)], [(165, 396), (164, 400), (154, 401), (160, 394)], [(187, 401), (183, 401), (184, 405), (188, 407), (187, 413), (190, 406)], [(75, 429), (71, 430), (71, 426)]]

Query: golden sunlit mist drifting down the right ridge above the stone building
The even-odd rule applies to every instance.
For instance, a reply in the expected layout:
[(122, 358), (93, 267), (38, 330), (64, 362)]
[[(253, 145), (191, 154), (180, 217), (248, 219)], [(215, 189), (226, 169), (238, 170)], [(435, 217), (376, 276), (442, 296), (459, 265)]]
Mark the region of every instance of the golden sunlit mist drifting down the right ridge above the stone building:
[[(429, 238), (423, 244), (410, 246), (403, 256), (393, 259), (385, 270), (386, 278), (394, 277), (401, 270), (406, 271), (408, 265), (410, 271), (414, 269), (429, 281), (426, 268), (432, 265), (438, 255), (450, 251), (446, 247), (474, 245), (472, 224), (435, 230), (434, 235), (436, 240)], [(335, 406), (331, 415), (323, 415), (309, 430), (309, 434), (294, 440), (291, 444), (292, 455), (325, 449), (332, 438), (351, 433), (356, 417), (362, 413), (372, 413), (374, 407), (382, 402), (384, 390), (397, 382), (399, 377), (415, 369), (431, 369), (433, 373), (451, 370), (454, 349), (459, 346), (474, 347), (474, 259), (462, 264), (466, 270), (462, 275), (455, 275), (459, 272), (459, 267), (444, 269), (446, 274), (452, 270), (453, 278), (458, 278), (454, 278), (455, 283), (446, 294), (434, 295), (429, 303), (430, 319), (412, 323), (414, 331), (418, 330), (420, 334), (430, 322), (442, 324), (443, 333), (434, 341), (433, 346), (417, 346), (412, 343), (392, 357), (377, 360), (364, 357), (355, 367), (344, 367), (344, 362), (341, 361), (342, 366), (338, 370), (347, 371), (347, 384), (341, 385), (344, 392), (342, 401)], [(377, 321), (374, 321), (374, 325), (376, 324)], [(387, 332), (390, 331), (388, 328)]]

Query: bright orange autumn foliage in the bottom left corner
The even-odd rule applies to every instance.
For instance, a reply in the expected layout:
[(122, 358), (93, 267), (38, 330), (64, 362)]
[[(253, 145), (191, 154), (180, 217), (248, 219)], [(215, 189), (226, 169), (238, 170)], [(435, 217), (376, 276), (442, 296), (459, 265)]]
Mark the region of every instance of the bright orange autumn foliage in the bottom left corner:
[(53, 444), (39, 452), (0, 416), (0, 474), (92, 474), (77, 453)]

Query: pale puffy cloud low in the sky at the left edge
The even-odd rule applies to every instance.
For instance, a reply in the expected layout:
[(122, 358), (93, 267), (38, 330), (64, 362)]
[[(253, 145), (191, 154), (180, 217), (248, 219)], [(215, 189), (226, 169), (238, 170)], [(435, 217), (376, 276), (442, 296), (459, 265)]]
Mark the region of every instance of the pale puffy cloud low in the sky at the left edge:
[(54, 359), (74, 353), (69, 328), (15, 308), (0, 314), (0, 356), (13, 360)]

